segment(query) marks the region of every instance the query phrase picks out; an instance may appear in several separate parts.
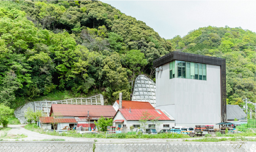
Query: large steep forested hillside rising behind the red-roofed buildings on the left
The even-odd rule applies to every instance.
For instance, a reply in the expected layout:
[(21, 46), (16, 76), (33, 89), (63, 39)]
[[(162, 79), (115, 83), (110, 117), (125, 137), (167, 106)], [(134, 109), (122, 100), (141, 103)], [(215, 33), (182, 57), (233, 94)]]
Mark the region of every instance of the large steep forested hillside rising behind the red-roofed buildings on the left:
[(170, 51), (145, 23), (99, 1), (1, 1), (0, 103), (65, 90), (129, 100), (136, 76), (154, 78), (153, 60)]

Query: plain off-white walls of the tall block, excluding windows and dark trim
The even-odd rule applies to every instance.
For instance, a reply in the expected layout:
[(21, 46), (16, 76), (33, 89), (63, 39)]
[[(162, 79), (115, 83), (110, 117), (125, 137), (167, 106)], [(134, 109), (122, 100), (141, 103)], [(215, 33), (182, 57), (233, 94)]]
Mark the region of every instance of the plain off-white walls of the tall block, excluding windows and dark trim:
[(220, 66), (206, 65), (206, 81), (170, 79), (169, 63), (156, 72), (156, 108), (166, 110), (176, 125), (221, 122)]

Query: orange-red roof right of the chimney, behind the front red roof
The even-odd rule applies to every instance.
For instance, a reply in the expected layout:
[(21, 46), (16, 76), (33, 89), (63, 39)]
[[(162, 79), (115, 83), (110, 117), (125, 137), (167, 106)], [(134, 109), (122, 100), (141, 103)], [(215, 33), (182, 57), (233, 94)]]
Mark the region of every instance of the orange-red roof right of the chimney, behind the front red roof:
[[(119, 100), (117, 100), (119, 105)], [(125, 101), (122, 100), (122, 108), (125, 109), (155, 109), (149, 102), (143, 101)]]

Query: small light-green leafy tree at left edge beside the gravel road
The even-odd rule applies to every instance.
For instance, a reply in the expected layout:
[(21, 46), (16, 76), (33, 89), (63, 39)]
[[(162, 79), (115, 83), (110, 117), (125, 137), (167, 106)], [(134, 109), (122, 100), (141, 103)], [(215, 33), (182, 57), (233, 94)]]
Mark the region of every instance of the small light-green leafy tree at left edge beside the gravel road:
[(3, 127), (7, 127), (8, 125), (8, 118), (13, 115), (13, 109), (10, 109), (10, 107), (5, 106), (4, 103), (0, 104), (0, 123), (3, 125)]

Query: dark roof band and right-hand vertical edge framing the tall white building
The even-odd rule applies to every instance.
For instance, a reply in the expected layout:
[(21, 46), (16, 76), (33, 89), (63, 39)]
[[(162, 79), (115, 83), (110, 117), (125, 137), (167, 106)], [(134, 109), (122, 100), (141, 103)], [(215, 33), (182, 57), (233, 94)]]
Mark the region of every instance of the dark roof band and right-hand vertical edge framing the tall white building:
[(197, 55), (191, 53), (184, 53), (173, 51), (169, 54), (166, 54), (159, 59), (153, 61), (153, 67), (157, 68), (166, 63), (170, 63), (172, 61), (187, 61), (187, 62), (195, 62), (202, 63), (208, 65), (218, 65), (220, 66), (220, 83), (221, 83), (221, 114), (222, 114), (222, 122), (225, 121), (225, 116), (227, 115), (227, 95), (226, 95), (226, 60), (219, 57), (209, 57), (204, 55)]

